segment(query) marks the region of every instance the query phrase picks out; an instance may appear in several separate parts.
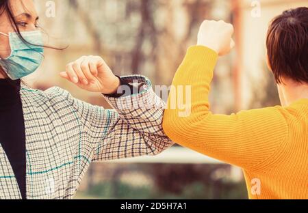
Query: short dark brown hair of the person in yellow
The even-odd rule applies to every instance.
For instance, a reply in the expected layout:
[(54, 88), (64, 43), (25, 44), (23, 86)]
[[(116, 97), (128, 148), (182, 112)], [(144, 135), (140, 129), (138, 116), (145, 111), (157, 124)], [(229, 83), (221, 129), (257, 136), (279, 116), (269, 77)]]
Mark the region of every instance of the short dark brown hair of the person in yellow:
[(286, 10), (270, 23), (266, 46), (277, 83), (308, 83), (308, 8)]

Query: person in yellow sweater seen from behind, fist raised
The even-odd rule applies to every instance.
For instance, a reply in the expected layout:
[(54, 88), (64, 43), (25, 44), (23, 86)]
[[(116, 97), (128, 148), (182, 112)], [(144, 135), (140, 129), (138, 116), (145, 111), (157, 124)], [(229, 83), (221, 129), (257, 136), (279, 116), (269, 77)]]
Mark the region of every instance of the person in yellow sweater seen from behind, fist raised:
[[(203, 22), (198, 45), (188, 49), (175, 74), (164, 130), (184, 147), (241, 167), (250, 199), (308, 199), (308, 8), (283, 12), (268, 30), (268, 64), (281, 106), (211, 113), (214, 68), (234, 46), (232, 35), (230, 24)], [(181, 109), (171, 104), (185, 86), (192, 91), (191, 112), (179, 116)]]

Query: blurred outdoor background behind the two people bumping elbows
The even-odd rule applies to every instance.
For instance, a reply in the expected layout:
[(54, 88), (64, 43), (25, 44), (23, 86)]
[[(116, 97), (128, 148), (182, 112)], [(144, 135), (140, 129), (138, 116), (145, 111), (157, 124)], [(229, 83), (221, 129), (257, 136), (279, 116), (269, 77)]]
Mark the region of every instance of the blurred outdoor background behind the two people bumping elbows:
[[(283, 10), (308, 6), (308, 0), (35, 1), (48, 44), (68, 48), (47, 48), (42, 67), (26, 82), (36, 89), (60, 86), (106, 108), (100, 94), (60, 79), (67, 63), (101, 55), (118, 75), (143, 74), (153, 85), (169, 86), (204, 19), (233, 23), (237, 46), (218, 61), (211, 90), (211, 111), (224, 114), (279, 104), (266, 67), (268, 23)], [(154, 158), (93, 163), (76, 198), (247, 199), (246, 190), (240, 169), (175, 146)]]

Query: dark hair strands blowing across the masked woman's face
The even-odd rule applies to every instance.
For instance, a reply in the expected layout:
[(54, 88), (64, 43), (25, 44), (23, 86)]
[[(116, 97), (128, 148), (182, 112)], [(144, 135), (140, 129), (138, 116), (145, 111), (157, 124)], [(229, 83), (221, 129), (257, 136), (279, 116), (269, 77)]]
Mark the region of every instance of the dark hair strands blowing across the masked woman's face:
[[(23, 38), (23, 36), (21, 35), (21, 32), (18, 29), (18, 25), (16, 23), (16, 20), (14, 18), (14, 14), (12, 14), (12, 8), (10, 5), (10, 1), (11, 0), (0, 0), (0, 16), (4, 13), (7, 12), (8, 17), (10, 19), (10, 23), (14, 29), (14, 31), (17, 33), (18, 37), (21, 38), (21, 40), (25, 43), (25, 44), (30, 44), (29, 42), (27, 42), (27, 40), (25, 40)], [(22, 2), (21, 2), (22, 3)], [(25, 7), (25, 5), (23, 5)], [(31, 44), (34, 46), (38, 46), (36, 44)], [(65, 48), (67, 48), (67, 46), (65, 48), (55, 48), (52, 46), (44, 46), (46, 48), (53, 48), (55, 50), (64, 50)], [(9, 70), (10, 69), (10, 63), (8, 61), (5, 61), (5, 59), (1, 58), (1, 64), (0, 64), (0, 73), (3, 74), (6, 78), (8, 78), (8, 74), (6, 74), (6, 72), (4, 72), (3, 69), (5, 70)], [(24, 82), (23, 82), (24, 83)]]

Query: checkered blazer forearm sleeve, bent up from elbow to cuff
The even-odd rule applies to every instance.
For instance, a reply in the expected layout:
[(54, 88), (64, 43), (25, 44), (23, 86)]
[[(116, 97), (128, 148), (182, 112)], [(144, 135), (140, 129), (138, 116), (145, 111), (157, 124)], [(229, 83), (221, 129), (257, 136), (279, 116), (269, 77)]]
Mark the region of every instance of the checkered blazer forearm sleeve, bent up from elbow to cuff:
[(162, 129), (165, 104), (153, 91), (151, 81), (138, 75), (122, 80), (142, 84), (142, 91), (123, 98), (105, 96), (115, 111), (110, 111), (112, 125), (98, 144), (94, 160), (153, 156), (173, 145)]

